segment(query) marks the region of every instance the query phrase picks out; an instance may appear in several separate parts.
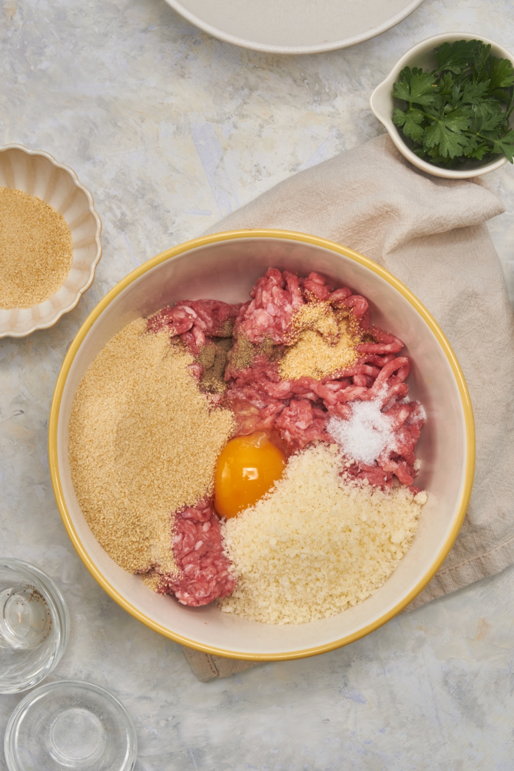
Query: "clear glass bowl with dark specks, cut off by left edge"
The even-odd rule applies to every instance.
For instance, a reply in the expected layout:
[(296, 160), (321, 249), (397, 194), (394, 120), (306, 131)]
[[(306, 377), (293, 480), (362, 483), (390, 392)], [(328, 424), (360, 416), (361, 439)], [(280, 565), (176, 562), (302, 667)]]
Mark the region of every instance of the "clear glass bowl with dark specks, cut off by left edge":
[(41, 682), (68, 636), (68, 606), (52, 579), (21, 560), (0, 559), (0, 693)]

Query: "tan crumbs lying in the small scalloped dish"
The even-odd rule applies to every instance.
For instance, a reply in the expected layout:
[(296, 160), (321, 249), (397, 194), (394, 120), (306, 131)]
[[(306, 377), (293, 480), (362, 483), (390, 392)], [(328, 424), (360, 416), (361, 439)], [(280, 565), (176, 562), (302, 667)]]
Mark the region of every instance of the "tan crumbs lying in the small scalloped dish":
[(51, 298), (72, 258), (62, 214), (22, 190), (0, 187), (0, 308), (32, 308)]

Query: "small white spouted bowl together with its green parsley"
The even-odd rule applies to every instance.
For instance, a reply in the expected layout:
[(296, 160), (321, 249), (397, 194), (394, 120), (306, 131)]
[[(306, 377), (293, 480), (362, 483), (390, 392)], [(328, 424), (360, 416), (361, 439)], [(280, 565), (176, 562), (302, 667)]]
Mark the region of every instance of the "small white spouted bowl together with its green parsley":
[(434, 35), (398, 59), (371, 109), (407, 160), (465, 179), (514, 160), (514, 57), (465, 32)]

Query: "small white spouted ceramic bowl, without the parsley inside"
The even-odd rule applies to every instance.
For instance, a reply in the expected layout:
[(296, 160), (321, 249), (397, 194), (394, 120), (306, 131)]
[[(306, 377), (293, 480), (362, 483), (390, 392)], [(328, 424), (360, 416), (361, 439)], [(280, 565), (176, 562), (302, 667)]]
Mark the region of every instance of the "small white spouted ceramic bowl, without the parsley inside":
[[(484, 38), (482, 35), (470, 35), (469, 32), (444, 32), (442, 35), (433, 35), (432, 38), (422, 40), (412, 46), (412, 49), (408, 51), (398, 59), (395, 66), (389, 72), (387, 78), (383, 80), (375, 91), (371, 94), (369, 103), (371, 109), (375, 113), (375, 116), (384, 124), (388, 130), (391, 140), (398, 147), (400, 153), (410, 160), (410, 162), (418, 169), (426, 171), (428, 174), (433, 174), (435, 177), (446, 177), (452, 180), (465, 180), (469, 177), (479, 177), (480, 174), (494, 171), (507, 163), (507, 159), (504, 155), (494, 156), (488, 163), (473, 163), (467, 161), (460, 169), (443, 169), (435, 166), (434, 163), (428, 163), (426, 160), (419, 158), (407, 145), (405, 136), (398, 129), (398, 126), (392, 122), (393, 108), (400, 105), (398, 99), (393, 99), (392, 91), (395, 82), (398, 80), (401, 70), (404, 67), (421, 67), (422, 69), (435, 69), (437, 61), (435, 59), (435, 52), (438, 46), (444, 42), (455, 42), (455, 40), (482, 40), (485, 44), (491, 43), (492, 56), (498, 56), (500, 59), (510, 59), (514, 63), (514, 56), (507, 49), (504, 49), (502, 45), (499, 45), (488, 38)], [(511, 126), (514, 126), (514, 113), (511, 116)]]

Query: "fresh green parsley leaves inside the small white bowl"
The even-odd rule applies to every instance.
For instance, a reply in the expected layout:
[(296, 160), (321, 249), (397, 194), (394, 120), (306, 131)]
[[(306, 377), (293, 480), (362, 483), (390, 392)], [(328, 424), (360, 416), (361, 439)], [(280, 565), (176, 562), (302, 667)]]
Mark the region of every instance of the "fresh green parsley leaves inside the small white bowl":
[(481, 40), (442, 43), (438, 68), (405, 67), (393, 96), (393, 123), (408, 137), (420, 158), (448, 169), (467, 160), (489, 160), (505, 153), (514, 162), (514, 68), (509, 59), (491, 56)]

